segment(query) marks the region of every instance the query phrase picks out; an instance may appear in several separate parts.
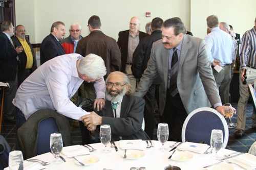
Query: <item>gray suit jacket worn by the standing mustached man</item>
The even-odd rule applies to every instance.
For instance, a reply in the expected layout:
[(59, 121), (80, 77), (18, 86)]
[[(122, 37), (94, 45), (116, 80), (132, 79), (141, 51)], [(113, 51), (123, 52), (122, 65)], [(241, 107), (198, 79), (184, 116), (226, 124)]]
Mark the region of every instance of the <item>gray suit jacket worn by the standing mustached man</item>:
[[(164, 48), (162, 40), (158, 40), (153, 44), (150, 60), (135, 93), (137, 96), (144, 96), (158, 73), (161, 115), (166, 100), (168, 63), (168, 50)], [(177, 87), (188, 114), (197, 108), (221, 103), (204, 40), (184, 35), (179, 58)]]

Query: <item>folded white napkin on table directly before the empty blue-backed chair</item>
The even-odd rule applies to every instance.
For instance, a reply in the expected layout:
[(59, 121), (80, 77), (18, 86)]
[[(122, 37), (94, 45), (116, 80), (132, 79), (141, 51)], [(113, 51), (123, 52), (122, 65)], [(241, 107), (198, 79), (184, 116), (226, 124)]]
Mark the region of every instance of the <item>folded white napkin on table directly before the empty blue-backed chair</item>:
[(207, 144), (193, 142), (184, 142), (178, 147), (180, 150), (193, 151), (199, 154), (204, 153), (208, 148), (209, 146)]

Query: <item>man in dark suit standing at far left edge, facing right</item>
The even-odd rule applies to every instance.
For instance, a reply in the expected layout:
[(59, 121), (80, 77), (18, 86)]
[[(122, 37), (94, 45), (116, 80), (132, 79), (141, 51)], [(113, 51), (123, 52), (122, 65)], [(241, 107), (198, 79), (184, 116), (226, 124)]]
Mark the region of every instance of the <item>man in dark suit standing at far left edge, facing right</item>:
[(4, 21), (1, 25), (0, 35), (0, 82), (9, 83), (5, 88), (4, 118), (14, 122), (14, 105), (12, 100), (17, 91), (17, 55), (22, 53), (22, 47), (14, 48), (11, 36), (14, 28), (11, 21)]

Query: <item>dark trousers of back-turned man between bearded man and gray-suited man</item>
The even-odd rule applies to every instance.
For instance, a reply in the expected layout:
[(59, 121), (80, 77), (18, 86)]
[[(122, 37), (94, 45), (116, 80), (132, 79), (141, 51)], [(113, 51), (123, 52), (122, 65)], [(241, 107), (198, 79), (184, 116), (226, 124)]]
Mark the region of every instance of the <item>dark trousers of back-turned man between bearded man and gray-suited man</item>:
[(150, 89), (148, 89), (146, 95), (144, 95), (145, 108), (144, 108), (144, 121), (145, 121), (145, 132), (153, 139), (154, 133), (154, 117), (155, 117), (155, 101), (157, 100), (157, 105), (159, 106), (159, 85), (152, 84)]

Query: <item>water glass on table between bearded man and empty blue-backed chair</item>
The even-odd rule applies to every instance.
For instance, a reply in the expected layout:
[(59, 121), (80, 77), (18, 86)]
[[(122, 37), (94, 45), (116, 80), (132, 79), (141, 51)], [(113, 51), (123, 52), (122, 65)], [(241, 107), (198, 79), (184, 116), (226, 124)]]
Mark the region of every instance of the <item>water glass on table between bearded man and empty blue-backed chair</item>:
[(169, 129), (168, 124), (160, 123), (157, 128), (157, 139), (162, 143), (160, 151), (166, 151), (167, 148), (164, 147), (164, 143), (168, 140)]

